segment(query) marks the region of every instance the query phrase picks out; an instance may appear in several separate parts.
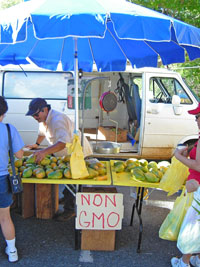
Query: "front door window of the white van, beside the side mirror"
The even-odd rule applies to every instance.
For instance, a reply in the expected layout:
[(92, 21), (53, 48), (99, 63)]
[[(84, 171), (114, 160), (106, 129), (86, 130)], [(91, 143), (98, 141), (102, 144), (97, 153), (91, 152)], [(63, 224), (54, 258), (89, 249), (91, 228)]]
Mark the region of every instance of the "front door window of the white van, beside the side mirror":
[(180, 96), (181, 104), (192, 104), (192, 100), (176, 79), (158, 77), (152, 77), (150, 79), (150, 102), (171, 103), (173, 95)]

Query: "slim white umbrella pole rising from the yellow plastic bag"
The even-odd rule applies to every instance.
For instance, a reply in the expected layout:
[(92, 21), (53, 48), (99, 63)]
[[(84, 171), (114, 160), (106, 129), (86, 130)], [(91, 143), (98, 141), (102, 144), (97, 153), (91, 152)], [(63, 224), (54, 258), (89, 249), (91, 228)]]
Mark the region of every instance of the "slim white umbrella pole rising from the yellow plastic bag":
[(77, 48), (77, 38), (74, 38), (74, 76), (75, 76), (75, 130), (74, 132), (78, 134), (79, 130), (79, 106), (78, 106), (78, 48)]

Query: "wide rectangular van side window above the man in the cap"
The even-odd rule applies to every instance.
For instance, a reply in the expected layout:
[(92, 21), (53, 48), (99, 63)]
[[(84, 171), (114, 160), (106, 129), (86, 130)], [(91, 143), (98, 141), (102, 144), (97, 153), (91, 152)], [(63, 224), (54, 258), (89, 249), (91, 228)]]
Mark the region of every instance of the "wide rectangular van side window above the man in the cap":
[(5, 98), (66, 99), (70, 72), (19, 72), (6, 71), (3, 74), (3, 95)]

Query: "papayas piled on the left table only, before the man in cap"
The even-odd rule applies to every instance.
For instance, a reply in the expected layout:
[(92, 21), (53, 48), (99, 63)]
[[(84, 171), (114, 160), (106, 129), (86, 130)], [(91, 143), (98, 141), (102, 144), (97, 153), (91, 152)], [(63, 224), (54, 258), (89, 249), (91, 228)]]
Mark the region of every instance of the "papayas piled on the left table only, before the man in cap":
[[(85, 179), (107, 180), (107, 169), (104, 163), (86, 161), (89, 176)], [(9, 173), (12, 175), (12, 168), (9, 164)], [(48, 179), (72, 179), (70, 170), (70, 156), (55, 157), (46, 156), (39, 164), (35, 156), (25, 156), (22, 159), (15, 158), (15, 170), (22, 178), (48, 178)]]

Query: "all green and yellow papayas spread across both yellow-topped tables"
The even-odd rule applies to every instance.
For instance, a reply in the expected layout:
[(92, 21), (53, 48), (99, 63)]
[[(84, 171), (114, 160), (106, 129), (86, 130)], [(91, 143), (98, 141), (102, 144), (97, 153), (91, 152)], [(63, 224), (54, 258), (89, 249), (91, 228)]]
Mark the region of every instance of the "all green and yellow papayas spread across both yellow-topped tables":
[[(170, 163), (168, 161), (150, 161), (146, 159), (129, 158), (126, 161), (112, 161), (112, 170), (120, 175), (128, 173), (128, 177), (135, 181), (159, 183)], [(93, 179), (96, 181), (108, 180), (108, 169), (106, 162), (95, 158), (86, 159), (85, 164), (88, 176), (82, 179)], [(78, 167), (78, 166), (77, 166)], [(8, 170), (12, 174), (9, 164)], [(15, 159), (15, 170), (22, 178), (38, 179), (73, 179), (70, 170), (70, 156), (55, 157), (46, 156), (40, 164), (35, 162), (34, 155), (25, 156), (22, 159)], [(129, 179), (129, 178), (128, 178)]]

